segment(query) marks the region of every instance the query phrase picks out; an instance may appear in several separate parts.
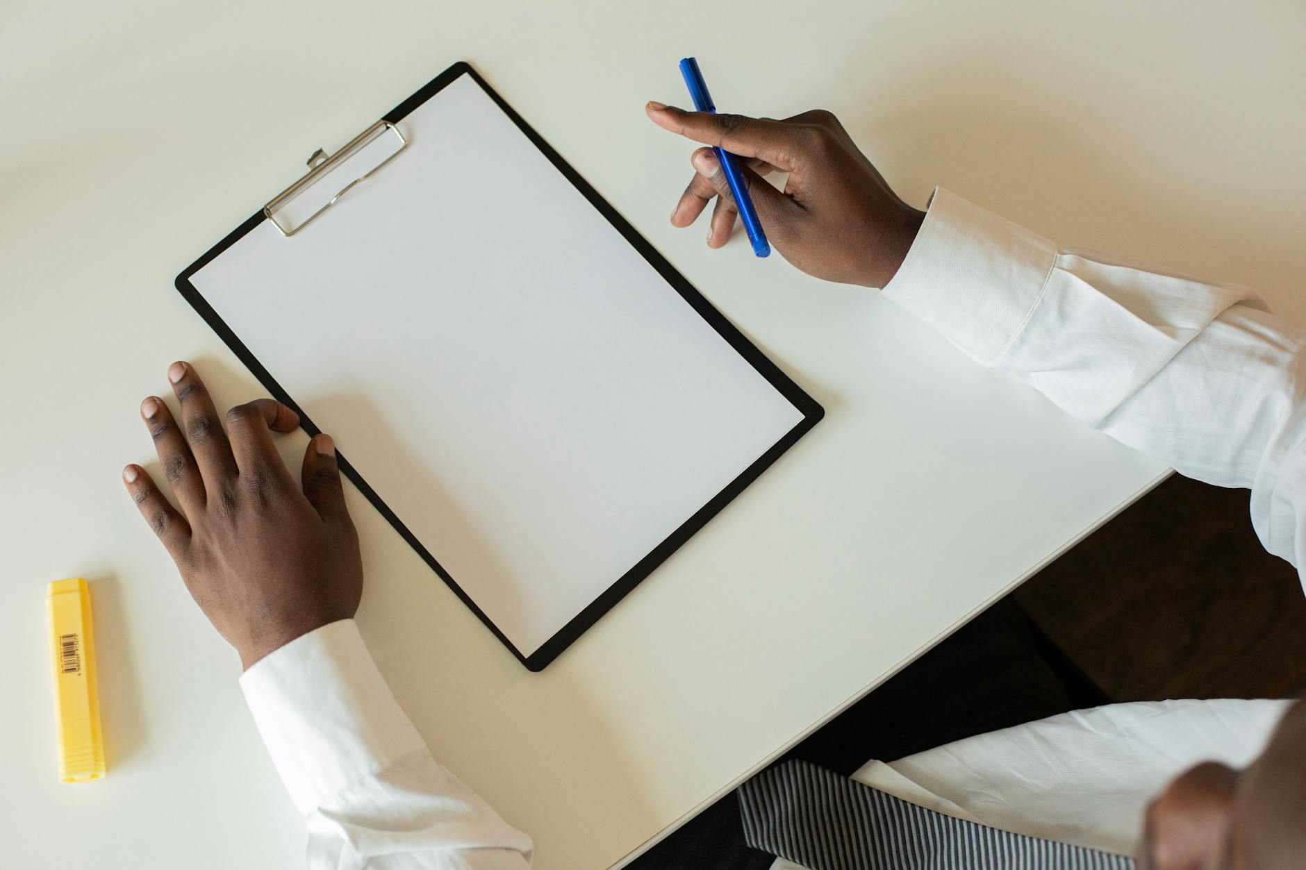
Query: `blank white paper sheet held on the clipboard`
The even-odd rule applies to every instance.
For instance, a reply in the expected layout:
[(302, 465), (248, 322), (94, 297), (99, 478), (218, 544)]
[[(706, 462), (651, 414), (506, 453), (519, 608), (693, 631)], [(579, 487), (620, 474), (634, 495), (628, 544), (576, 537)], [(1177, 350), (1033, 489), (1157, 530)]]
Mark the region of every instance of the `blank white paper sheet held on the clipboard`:
[(804, 414), (469, 74), (397, 127), (191, 283), (529, 657)]

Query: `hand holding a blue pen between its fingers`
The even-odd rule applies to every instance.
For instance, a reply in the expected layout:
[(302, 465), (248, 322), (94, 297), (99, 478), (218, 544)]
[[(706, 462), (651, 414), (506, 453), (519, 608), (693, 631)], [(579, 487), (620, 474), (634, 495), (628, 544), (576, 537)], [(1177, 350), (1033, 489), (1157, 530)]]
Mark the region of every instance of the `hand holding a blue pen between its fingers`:
[[(645, 111), (663, 129), (748, 158), (743, 175), (767, 238), (807, 274), (883, 287), (925, 219), (923, 212), (893, 193), (827, 111), (785, 120), (687, 112), (658, 102)], [(720, 248), (738, 216), (734, 197), (710, 148), (697, 149), (691, 159), (695, 176), (671, 212), (671, 223), (690, 226), (717, 197), (708, 247)], [(789, 172), (784, 192), (761, 180), (773, 169)]]

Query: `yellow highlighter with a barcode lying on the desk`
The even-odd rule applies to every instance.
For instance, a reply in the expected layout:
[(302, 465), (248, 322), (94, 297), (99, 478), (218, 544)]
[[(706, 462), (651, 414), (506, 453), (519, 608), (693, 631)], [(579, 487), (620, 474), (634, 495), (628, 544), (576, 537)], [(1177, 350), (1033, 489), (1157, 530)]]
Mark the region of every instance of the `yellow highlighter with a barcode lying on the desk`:
[(50, 584), (50, 649), (55, 662), (55, 715), (59, 717), (59, 779), (89, 782), (104, 776), (95, 688), (95, 637), (90, 628), (86, 581)]

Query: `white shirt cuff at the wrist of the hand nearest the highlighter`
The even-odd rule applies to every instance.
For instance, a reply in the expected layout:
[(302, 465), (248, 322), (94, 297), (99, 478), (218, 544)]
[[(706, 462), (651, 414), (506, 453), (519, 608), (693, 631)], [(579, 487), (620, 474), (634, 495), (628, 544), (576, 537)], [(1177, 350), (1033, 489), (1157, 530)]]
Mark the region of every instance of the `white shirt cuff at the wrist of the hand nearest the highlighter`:
[(240, 688), (304, 815), (359, 779), (426, 749), (353, 619), (273, 651), (240, 677)]

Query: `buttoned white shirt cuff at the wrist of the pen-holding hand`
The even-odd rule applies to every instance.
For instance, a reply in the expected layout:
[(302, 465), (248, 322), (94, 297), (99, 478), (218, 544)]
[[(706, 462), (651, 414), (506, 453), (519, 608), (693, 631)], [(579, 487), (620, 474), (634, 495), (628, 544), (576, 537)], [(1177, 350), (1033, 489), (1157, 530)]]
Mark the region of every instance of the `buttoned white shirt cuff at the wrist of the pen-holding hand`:
[(990, 364), (1038, 302), (1055, 260), (1043, 236), (938, 187), (883, 293)]

